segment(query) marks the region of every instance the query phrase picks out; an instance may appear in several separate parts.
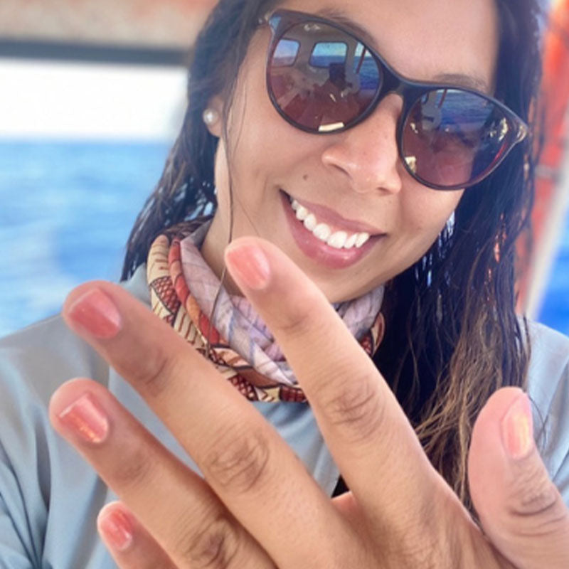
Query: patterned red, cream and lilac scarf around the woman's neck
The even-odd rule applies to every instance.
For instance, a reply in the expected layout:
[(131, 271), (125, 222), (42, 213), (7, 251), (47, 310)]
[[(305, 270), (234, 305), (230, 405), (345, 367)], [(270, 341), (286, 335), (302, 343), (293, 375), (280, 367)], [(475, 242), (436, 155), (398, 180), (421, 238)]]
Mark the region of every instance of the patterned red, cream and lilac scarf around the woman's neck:
[[(147, 278), (154, 313), (172, 326), (252, 401), (306, 402), (280, 347), (244, 297), (220, 285), (200, 248), (210, 223), (181, 223), (151, 245)], [(334, 308), (372, 356), (385, 323), (379, 312), (383, 287)], [(211, 315), (211, 320), (208, 315)]]

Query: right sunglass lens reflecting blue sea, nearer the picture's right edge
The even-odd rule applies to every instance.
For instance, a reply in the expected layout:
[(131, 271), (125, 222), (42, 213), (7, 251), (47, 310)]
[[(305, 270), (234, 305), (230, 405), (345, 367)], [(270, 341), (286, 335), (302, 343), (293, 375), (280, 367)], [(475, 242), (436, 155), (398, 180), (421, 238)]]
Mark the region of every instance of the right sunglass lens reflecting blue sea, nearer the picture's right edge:
[(427, 184), (476, 183), (498, 163), (513, 137), (509, 119), (491, 100), (459, 89), (428, 92), (403, 127), (403, 159)]

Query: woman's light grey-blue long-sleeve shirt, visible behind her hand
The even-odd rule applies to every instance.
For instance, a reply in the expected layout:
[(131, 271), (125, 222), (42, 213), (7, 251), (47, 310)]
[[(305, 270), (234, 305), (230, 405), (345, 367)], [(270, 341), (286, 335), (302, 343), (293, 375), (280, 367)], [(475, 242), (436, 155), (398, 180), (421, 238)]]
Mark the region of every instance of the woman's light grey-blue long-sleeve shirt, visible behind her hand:
[[(125, 287), (144, 302), (140, 267)], [(529, 393), (546, 418), (543, 458), (569, 504), (569, 338), (531, 325)], [(58, 385), (89, 377), (111, 392), (174, 454), (195, 464), (140, 396), (60, 317), (0, 340), (0, 568), (107, 569), (115, 563), (95, 520), (116, 496), (48, 421)], [(308, 405), (255, 403), (328, 494), (339, 476)], [(541, 416), (541, 417), (540, 417)]]

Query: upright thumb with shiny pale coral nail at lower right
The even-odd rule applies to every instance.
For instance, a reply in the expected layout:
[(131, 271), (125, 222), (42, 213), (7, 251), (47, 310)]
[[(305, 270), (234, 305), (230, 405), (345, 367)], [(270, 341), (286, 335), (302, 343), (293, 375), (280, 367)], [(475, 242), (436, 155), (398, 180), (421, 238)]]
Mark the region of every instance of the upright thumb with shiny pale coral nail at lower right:
[(569, 567), (569, 510), (541, 461), (521, 390), (501, 389), (482, 409), (468, 472), (482, 527), (516, 568)]

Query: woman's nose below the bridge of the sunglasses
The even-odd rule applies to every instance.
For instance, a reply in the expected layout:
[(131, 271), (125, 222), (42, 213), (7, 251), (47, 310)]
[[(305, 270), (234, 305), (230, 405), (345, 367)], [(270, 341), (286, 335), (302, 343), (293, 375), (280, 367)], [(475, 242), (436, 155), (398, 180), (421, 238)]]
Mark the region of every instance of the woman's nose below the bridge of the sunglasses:
[(400, 96), (387, 95), (366, 119), (337, 134), (322, 153), (324, 165), (347, 176), (353, 191), (398, 193), (402, 181), (395, 138), (402, 108)]

